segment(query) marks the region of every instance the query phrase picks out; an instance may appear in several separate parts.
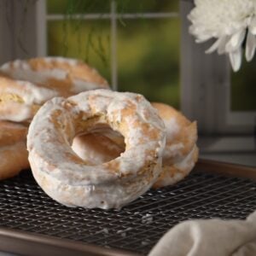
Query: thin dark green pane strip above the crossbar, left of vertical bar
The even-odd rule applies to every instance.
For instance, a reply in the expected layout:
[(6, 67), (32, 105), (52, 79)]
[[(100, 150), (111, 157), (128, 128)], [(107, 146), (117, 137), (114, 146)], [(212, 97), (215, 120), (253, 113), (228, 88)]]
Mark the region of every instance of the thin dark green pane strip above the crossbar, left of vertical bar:
[(48, 14), (109, 13), (107, 0), (47, 0)]

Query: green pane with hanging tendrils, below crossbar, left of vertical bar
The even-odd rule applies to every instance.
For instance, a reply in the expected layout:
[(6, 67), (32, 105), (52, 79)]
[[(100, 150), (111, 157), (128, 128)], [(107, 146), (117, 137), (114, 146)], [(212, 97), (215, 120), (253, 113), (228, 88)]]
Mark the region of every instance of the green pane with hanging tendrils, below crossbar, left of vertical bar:
[(110, 81), (109, 20), (48, 21), (48, 55), (81, 59)]

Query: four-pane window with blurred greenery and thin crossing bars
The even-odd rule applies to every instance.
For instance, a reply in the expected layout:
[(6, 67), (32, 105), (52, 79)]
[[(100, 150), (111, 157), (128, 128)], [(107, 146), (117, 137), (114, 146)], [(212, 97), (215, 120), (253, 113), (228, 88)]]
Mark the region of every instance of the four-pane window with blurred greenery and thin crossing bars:
[[(65, 9), (73, 15), (63, 15)], [(82, 58), (114, 90), (135, 91), (179, 108), (177, 0), (50, 0), (46, 18), (49, 55)]]

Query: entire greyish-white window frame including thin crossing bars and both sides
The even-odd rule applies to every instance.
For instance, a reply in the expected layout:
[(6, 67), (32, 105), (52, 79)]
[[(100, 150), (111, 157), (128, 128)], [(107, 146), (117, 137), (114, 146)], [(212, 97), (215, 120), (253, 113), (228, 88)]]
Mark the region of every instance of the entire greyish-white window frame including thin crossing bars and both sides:
[[(28, 0), (29, 9), (24, 22), (22, 4), (27, 0), (4, 0), (0, 2), (0, 32), (4, 40), (0, 41), (0, 62), (17, 58), (44, 56), (46, 49), (46, 20), (63, 19), (63, 15), (47, 15), (46, 0)], [(244, 133), (253, 134), (255, 113), (230, 112), (230, 63), (226, 56), (206, 55), (205, 49), (211, 44), (195, 44), (195, 38), (189, 35), (187, 15), (193, 8), (193, 0), (180, 0), (180, 16), (182, 19), (181, 37), (181, 108), (189, 119), (199, 123), (201, 134)], [(9, 13), (11, 27), (5, 16)], [(112, 81), (113, 89), (117, 89), (118, 62), (116, 52), (117, 19), (115, 1), (111, 3), (111, 13), (106, 15), (82, 15), (84, 19), (111, 19), (112, 42)], [(79, 15), (79, 18), (81, 15)], [(158, 14), (125, 14), (123, 18), (171, 18), (176, 13)], [(23, 24), (22, 24), (23, 22)], [(26, 26), (22, 39), (27, 53), (20, 49), (16, 38), (20, 25)], [(1, 64), (0, 63), (0, 64)], [(202, 69), (204, 72), (202, 73)], [(243, 120), (242, 120), (243, 119)]]

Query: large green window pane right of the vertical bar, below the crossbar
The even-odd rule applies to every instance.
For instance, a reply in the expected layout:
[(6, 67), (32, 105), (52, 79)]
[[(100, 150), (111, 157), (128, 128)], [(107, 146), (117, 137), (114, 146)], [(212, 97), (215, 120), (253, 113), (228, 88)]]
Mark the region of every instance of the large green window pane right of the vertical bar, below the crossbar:
[(179, 19), (125, 24), (118, 27), (119, 90), (179, 108)]

